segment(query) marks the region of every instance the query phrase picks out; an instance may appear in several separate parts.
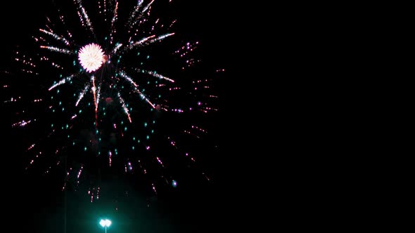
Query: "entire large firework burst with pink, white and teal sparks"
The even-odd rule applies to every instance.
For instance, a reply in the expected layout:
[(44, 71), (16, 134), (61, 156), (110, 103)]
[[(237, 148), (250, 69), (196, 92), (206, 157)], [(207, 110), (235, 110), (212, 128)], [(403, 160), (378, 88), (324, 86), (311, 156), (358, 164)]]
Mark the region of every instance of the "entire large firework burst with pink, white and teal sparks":
[[(4, 101), (25, 107), (15, 112), (13, 128), (41, 128), (25, 145), (25, 169), (37, 160), (44, 174), (64, 168), (63, 189), (77, 189), (84, 174), (122, 172), (145, 177), (157, 194), (158, 185), (179, 185), (178, 164), (210, 180), (196, 161), (198, 152), (215, 151), (203, 144), (212, 126), (205, 119), (218, 111), (215, 78), (224, 70), (195, 68), (199, 42), (175, 32), (174, 15), (157, 13), (174, 1), (88, 4), (73, 0), (62, 6), (73, 10), (66, 14), (57, 8), (32, 37), (34, 55), (15, 53), (21, 74), (39, 88)], [(99, 190), (99, 182), (89, 186), (91, 201)]]

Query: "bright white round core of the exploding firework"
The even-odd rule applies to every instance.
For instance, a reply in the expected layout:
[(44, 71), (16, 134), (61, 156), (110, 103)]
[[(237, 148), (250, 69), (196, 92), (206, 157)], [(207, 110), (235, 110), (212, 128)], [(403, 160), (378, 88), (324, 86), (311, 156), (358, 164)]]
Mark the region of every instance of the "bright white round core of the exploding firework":
[(91, 73), (99, 69), (105, 62), (105, 55), (98, 44), (87, 44), (79, 51), (78, 60), (82, 67)]

